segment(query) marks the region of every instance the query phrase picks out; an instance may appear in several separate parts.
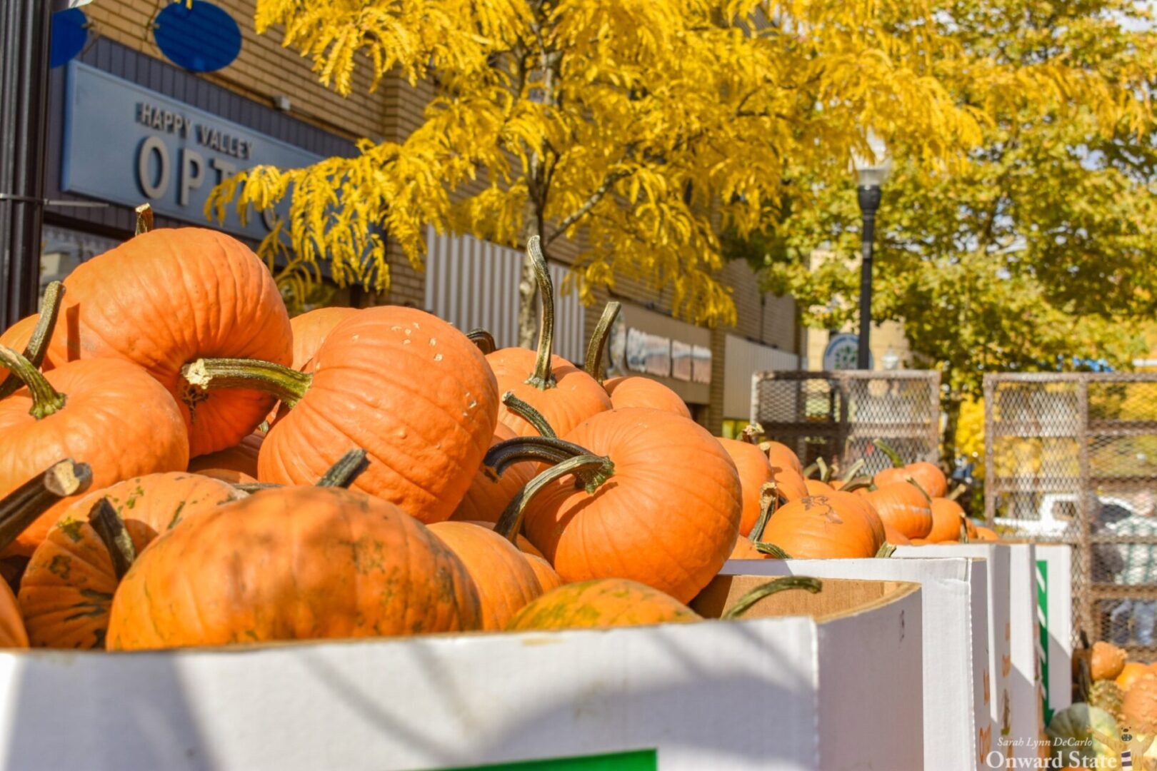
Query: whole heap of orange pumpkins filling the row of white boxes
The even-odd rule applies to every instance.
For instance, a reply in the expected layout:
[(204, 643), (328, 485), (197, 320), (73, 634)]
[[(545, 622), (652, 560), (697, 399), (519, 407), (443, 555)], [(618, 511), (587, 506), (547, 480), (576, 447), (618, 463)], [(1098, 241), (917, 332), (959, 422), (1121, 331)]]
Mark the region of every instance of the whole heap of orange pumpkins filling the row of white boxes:
[(967, 532), (931, 465), (852, 492), (604, 380), (617, 303), (583, 369), (554, 356), (528, 254), (537, 350), (400, 306), (290, 319), (264, 262), (199, 228), (142, 228), (52, 286), (0, 335), (0, 645), (694, 621), (732, 557)]

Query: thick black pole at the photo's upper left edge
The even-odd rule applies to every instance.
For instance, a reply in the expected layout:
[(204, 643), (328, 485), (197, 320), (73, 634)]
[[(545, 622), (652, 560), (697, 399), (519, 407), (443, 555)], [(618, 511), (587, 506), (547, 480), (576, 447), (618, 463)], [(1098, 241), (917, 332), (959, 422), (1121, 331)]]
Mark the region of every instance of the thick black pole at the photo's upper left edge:
[(50, 0), (0, 0), (0, 329), (36, 312)]

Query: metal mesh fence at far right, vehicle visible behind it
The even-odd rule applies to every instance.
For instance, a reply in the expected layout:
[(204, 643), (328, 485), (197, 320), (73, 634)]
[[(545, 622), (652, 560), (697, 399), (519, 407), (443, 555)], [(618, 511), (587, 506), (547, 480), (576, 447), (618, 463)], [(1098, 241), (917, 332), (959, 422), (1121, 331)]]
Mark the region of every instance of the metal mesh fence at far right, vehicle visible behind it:
[(1074, 637), (1157, 653), (1157, 373), (988, 375), (985, 450), (989, 522), (1074, 547)]

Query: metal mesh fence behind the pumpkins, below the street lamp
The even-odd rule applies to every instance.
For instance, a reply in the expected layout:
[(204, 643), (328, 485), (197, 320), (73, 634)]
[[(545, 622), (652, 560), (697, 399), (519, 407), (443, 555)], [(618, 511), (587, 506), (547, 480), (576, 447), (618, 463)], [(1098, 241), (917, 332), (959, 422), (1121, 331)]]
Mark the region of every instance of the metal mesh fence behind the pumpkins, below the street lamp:
[(864, 473), (891, 464), (872, 439), (908, 461), (939, 457), (939, 372), (924, 370), (756, 372), (751, 420), (804, 466), (823, 457)]

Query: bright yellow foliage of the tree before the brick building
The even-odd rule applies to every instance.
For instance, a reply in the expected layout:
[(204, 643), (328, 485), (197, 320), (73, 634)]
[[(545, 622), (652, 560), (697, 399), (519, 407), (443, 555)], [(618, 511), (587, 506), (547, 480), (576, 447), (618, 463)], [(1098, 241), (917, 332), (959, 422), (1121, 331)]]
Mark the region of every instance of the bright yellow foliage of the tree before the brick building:
[[(292, 193), (300, 265), (388, 287), (385, 236), (414, 267), (423, 233), (518, 245), (585, 238), (584, 296), (629, 276), (673, 290), (693, 321), (730, 321), (716, 281), (720, 232), (765, 223), (786, 194), (848, 175), (868, 131), (936, 168), (967, 161), (1000, 112), (1044, 113), (1079, 94), (1115, 125), (1128, 109), (1079, 62), (1001, 60), (955, 15), (995, 2), (938, 0), (258, 0), (341, 94), (368, 67), (432, 79), (425, 123), (403, 141), (307, 169), (257, 166), (207, 213), (244, 215)], [(981, 43), (981, 42), (977, 42)], [(806, 171), (806, 190), (794, 186)], [(278, 237), (264, 249), (278, 247)], [(524, 273), (519, 329), (532, 334)]]

